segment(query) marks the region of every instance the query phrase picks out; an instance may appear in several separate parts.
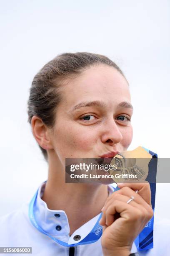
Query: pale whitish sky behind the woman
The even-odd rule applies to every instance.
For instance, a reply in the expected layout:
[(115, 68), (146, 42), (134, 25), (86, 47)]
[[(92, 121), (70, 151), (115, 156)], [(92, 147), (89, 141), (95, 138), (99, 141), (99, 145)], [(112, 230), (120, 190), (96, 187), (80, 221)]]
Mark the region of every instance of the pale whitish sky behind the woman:
[[(145, 146), (170, 157), (170, 1), (2, 0), (0, 27), (0, 216), (30, 201), (47, 179), (27, 100), (34, 75), (57, 54), (89, 51), (115, 61), (134, 106), (129, 150)], [(170, 218), (169, 187), (157, 185), (160, 218)]]

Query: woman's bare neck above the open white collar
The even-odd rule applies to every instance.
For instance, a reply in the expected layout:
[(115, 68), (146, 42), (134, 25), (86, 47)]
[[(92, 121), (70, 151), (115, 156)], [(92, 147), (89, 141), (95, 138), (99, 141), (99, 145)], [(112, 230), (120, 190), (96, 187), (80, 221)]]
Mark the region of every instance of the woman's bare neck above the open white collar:
[[(42, 200), (47, 203), (50, 210), (65, 211), (71, 235), (101, 212), (108, 197), (107, 186), (65, 183), (65, 170), (61, 164), (58, 164), (49, 163), (48, 179)], [(57, 166), (60, 166), (60, 169)]]

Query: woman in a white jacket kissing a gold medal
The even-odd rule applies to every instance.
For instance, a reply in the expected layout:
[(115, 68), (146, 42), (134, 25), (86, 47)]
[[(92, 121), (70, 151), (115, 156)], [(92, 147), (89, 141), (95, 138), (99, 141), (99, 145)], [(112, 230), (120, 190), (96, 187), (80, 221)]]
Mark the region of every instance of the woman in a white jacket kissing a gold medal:
[[(66, 53), (47, 63), (33, 79), (28, 120), (48, 162), (48, 179), (30, 204), (1, 218), (4, 230), (4, 223), (13, 228), (4, 231), (0, 246), (50, 256), (137, 252), (134, 240), (153, 216), (148, 184), (119, 184), (112, 193), (111, 185), (65, 183), (66, 158), (114, 157), (128, 149), (132, 114), (128, 82), (107, 57)], [(94, 242), (91, 230), (101, 210), (103, 233)], [(18, 231), (14, 225), (21, 225)], [(147, 255), (156, 255), (153, 250)]]

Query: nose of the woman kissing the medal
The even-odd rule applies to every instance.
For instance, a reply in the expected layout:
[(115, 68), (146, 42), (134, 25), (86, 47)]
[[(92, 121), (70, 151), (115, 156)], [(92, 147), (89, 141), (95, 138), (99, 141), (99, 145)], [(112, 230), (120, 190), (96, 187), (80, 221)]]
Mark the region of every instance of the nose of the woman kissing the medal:
[(115, 123), (115, 120), (113, 118), (107, 120), (102, 131), (102, 143), (113, 146), (122, 141), (122, 138), (122, 133)]

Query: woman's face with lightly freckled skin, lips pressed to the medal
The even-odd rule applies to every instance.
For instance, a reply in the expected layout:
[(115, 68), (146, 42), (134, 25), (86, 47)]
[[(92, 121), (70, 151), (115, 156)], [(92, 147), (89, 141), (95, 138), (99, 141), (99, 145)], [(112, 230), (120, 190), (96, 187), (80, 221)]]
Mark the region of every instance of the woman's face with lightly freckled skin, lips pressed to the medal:
[(97, 158), (125, 151), (133, 137), (129, 86), (113, 67), (93, 66), (64, 85), (52, 145), (65, 158)]

